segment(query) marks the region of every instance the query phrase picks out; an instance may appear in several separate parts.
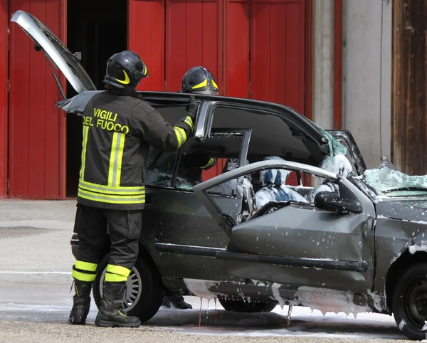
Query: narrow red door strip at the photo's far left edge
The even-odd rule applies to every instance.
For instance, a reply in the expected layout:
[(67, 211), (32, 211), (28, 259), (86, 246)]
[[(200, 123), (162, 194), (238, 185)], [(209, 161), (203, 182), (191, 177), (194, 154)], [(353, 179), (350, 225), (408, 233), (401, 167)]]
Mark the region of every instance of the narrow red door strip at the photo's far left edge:
[(0, 198), (7, 196), (8, 4), (0, 0)]

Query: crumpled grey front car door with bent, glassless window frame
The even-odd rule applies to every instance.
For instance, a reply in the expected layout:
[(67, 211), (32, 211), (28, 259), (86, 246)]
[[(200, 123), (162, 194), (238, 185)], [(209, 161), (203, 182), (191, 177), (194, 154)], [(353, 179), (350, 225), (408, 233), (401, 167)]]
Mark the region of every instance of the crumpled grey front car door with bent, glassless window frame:
[[(306, 164), (263, 161), (228, 171), (194, 186), (218, 225), (218, 209), (208, 190), (227, 181), (263, 169), (302, 171), (339, 184), (340, 194), (362, 204), (361, 213), (337, 213), (312, 204), (283, 202), (276, 209), (258, 209), (253, 218), (233, 227), (226, 251), (216, 258), (226, 260), (227, 273), (236, 278), (268, 280), (295, 287), (330, 288), (366, 293), (374, 275), (374, 206), (348, 179)], [(274, 206), (273, 206), (274, 207)], [(215, 213), (217, 212), (217, 213)]]

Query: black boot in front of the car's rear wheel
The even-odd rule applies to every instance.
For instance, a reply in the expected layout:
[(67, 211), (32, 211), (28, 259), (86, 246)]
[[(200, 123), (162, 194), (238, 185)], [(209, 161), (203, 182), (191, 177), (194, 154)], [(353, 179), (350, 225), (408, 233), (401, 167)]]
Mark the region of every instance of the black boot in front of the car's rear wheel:
[(138, 317), (127, 317), (121, 311), (125, 291), (126, 283), (105, 283), (95, 325), (99, 327), (139, 327), (141, 321)]

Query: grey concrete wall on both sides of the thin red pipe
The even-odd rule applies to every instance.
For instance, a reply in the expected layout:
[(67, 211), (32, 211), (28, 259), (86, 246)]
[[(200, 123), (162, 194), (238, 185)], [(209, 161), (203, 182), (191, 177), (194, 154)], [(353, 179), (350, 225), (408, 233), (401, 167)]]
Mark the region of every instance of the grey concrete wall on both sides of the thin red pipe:
[[(334, 0), (313, 1), (313, 120), (333, 125)], [(391, 0), (343, 0), (342, 125), (369, 168), (391, 152)]]

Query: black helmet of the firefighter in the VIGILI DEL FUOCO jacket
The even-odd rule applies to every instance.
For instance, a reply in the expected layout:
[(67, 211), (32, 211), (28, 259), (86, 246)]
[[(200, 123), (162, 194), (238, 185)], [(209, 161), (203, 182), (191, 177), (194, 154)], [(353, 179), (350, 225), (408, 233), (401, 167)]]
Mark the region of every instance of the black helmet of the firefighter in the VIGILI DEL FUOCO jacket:
[(107, 62), (104, 83), (116, 88), (136, 88), (148, 70), (142, 59), (132, 51), (115, 53)]

